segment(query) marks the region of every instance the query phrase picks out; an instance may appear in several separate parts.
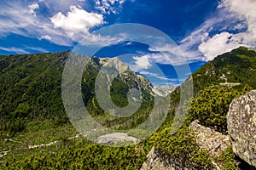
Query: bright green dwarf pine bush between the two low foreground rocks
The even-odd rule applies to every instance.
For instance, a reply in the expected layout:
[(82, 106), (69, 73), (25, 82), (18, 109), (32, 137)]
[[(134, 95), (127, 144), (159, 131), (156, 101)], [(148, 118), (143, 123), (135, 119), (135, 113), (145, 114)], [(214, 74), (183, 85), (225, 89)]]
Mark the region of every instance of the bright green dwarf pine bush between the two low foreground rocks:
[(168, 164), (177, 162), (177, 167), (190, 167), (194, 169), (211, 169), (212, 163), (206, 150), (200, 150), (195, 143), (195, 135), (188, 127), (183, 127), (172, 134), (172, 129), (166, 127), (155, 133), (155, 149), (158, 155)]

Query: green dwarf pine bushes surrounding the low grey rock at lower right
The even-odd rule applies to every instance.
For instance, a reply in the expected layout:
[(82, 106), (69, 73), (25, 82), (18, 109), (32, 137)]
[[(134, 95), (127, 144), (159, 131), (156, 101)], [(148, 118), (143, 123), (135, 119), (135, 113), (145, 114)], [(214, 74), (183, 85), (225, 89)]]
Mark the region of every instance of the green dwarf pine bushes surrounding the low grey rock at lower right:
[[(159, 156), (165, 157), (165, 160), (170, 163), (178, 162), (179, 167), (212, 169), (212, 156), (206, 150), (201, 150), (195, 143), (195, 134), (189, 131), (189, 124), (194, 120), (199, 120), (204, 126), (227, 133), (226, 115), (230, 103), (251, 89), (246, 86), (242, 90), (227, 87), (201, 90), (198, 98), (191, 99), (189, 115), (177, 133), (173, 133), (172, 121), (166, 122), (159, 132), (154, 133), (151, 139), (154, 140), (153, 143)], [(231, 152), (227, 150), (223, 156), (230, 156), (229, 154)], [(236, 160), (228, 161), (228, 158), (225, 157), (218, 161), (225, 165), (230, 164), (230, 168), (236, 167)]]

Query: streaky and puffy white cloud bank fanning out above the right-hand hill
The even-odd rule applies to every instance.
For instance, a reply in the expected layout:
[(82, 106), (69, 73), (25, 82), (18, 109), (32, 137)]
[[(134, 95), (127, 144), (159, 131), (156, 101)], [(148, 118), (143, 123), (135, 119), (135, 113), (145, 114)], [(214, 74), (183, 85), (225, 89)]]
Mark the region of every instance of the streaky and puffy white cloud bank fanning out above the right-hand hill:
[(205, 61), (241, 45), (255, 48), (255, 8), (254, 0), (222, 0), (210, 18), (179, 42), (179, 48), (188, 60)]

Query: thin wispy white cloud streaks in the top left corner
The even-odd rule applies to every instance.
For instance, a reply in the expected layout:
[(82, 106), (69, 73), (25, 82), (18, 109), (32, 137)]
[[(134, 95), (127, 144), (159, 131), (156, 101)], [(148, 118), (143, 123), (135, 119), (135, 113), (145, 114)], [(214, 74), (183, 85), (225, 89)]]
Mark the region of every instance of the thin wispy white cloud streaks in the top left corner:
[(24, 37), (42, 37), (49, 35), (51, 41), (60, 45), (69, 45), (71, 41), (56, 31), (48, 18), (39, 17), (32, 9), (38, 9), (38, 3), (31, 5), (19, 1), (6, 1), (0, 6), (0, 37), (17, 34)]

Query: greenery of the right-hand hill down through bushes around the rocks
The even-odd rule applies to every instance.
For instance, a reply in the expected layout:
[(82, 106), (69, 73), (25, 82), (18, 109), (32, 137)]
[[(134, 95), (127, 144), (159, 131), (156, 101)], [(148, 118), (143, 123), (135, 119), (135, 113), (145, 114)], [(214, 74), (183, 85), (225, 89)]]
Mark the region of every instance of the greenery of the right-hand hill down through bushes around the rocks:
[[(226, 115), (230, 103), (233, 99), (256, 88), (255, 62), (255, 51), (241, 47), (230, 53), (219, 55), (195, 71), (192, 75), (195, 97), (190, 100), (189, 115), (183, 127), (172, 134), (172, 119), (177, 110), (180, 95), (180, 88), (176, 88), (171, 94), (171, 110), (166, 122), (152, 137), (159, 155), (165, 157), (166, 161), (178, 162), (181, 167), (185, 164), (187, 167), (196, 169), (207, 166), (207, 169), (211, 169), (212, 163), (209, 159), (212, 159), (212, 156), (209, 156), (205, 150), (200, 150), (195, 144), (194, 135), (188, 129), (189, 124), (197, 119), (202, 125), (226, 134)], [(248, 75), (247, 71), (249, 71)], [(226, 75), (226, 79), (222, 79), (223, 74)], [(221, 84), (221, 82), (236, 82), (236, 85)], [(224, 151), (222, 158), (218, 158), (218, 162), (224, 164), (225, 169), (238, 168), (234, 153), (230, 149)]]

